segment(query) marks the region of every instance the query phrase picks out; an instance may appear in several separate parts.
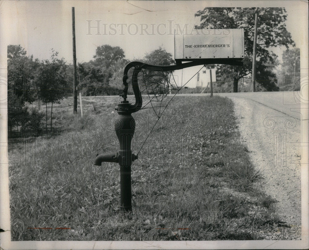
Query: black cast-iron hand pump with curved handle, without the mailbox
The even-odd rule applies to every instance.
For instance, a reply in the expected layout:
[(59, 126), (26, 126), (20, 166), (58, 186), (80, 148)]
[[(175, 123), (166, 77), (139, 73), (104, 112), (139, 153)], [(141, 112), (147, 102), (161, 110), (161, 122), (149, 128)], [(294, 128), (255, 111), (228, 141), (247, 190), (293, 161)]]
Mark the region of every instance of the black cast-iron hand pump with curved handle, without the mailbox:
[[(173, 71), (177, 69), (188, 68), (203, 64), (229, 64), (229, 65), (243, 65), (240, 61), (233, 61), (228, 59), (201, 59), (188, 63), (181, 63), (176, 61), (176, 65), (158, 66), (151, 64), (144, 64), (142, 62), (130, 62), (125, 66), (123, 76), (123, 101), (118, 103), (116, 108), (117, 116), (114, 121), (115, 132), (119, 140), (119, 151), (116, 154), (100, 154), (97, 155), (94, 165), (101, 166), (102, 162), (117, 162), (120, 165), (120, 211), (131, 211), (131, 164), (138, 157), (132, 154), (131, 141), (135, 131), (135, 120), (132, 113), (137, 112), (142, 108), (142, 95), (138, 87), (138, 73), (141, 69), (152, 71)], [(127, 101), (128, 92), (128, 71), (134, 67), (132, 74), (132, 88), (135, 96), (135, 104), (131, 105)]]

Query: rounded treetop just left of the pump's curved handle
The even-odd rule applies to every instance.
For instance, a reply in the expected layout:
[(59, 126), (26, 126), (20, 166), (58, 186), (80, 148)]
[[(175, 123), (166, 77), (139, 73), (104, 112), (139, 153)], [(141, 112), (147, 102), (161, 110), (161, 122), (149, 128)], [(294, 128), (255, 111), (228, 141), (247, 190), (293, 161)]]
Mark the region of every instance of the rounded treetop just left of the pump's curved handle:
[(111, 65), (115, 64), (116, 61), (125, 57), (125, 52), (118, 46), (110, 46), (104, 44), (98, 46), (95, 50), (95, 55), (93, 56), (95, 66), (109, 68)]

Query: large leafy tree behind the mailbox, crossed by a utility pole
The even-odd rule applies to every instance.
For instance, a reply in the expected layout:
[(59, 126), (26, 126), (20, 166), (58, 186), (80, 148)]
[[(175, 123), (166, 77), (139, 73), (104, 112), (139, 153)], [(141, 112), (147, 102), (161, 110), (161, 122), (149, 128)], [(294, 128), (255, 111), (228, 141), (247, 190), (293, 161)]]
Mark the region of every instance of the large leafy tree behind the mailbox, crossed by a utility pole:
[[(220, 75), (218, 81), (231, 79), (233, 91), (238, 92), (238, 81), (252, 73), (252, 52), (254, 36), (255, 8), (213, 8), (199, 10), (195, 16), (201, 17), (197, 29), (244, 29), (245, 56), (243, 67), (217, 65)], [(256, 44), (256, 79), (267, 91), (276, 91), (271, 67), (277, 64), (277, 55), (268, 50), (270, 47), (295, 46), (291, 34), (286, 30), (286, 10), (284, 8), (259, 8)], [(266, 70), (265, 66), (268, 68)], [(266, 74), (266, 75), (265, 75)], [(263, 76), (263, 79), (258, 78)], [(267, 80), (267, 81), (266, 81)]]

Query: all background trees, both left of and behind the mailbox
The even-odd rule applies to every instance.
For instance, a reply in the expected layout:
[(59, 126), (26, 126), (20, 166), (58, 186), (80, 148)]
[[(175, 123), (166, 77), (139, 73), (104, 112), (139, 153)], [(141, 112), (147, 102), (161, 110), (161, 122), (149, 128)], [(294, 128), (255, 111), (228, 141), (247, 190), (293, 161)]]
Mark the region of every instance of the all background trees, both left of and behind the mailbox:
[[(245, 56), (242, 67), (230, 65), (206, 65), (216, 68), (217, 82), (214, 88), (218, 92), (238, 92), (240, 79), (249, 78), (252, 73), (253, 28), (256, 8), (212, 8), (206, 7), (195, 16), (201, 18), (197, 29), (243, 28), (245, 35)], [(286, 11), (284, 8), (259, 8), (256, 45), (256, 89), (257, 91), (298, 90), (300, 68), (299, 48), (295, 46), (290, 33), (286, 30)], [(277, 55), (271, 47), (285, 46), (281, 69)], [(50, 127), (52, 129), (53, 104), (72, 95), (73, 65), (58, 58), (58, 52), (52, 49), (50, 59), (39, 60), (27, 56), (20, 45), (9, 45), (8, 57), (8, 125), (12, 130), (12, 119), (29, 113), (25, 102), (39, 101), (45, 105), (47, 121), (47, 104), (51, 104)], [(145, 55), (141, 61), (155, 65), (175, 64), (172, 55), (164, 48)], [(129, 60), (118, 46), (108, 44), (98, 46), (93, 59), (78, 64), (78, 91), (83, 96), (118, 95), (123, 88), (123, 69)], [(284, 78), (285, 76), (286, 78)], [(296, 79), (296, 80), (295, 80)], [(32, 110), (32, 116), (37, 111)], [(47, 130), (47, 123), (46, 123)]]

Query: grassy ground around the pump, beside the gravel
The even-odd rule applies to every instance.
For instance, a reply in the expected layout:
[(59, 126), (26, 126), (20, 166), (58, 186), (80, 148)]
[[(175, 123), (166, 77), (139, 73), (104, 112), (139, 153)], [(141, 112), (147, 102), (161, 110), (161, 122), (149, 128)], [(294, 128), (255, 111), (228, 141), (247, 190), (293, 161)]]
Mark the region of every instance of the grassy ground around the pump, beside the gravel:
[[(56, 133), (31, 142), (32, 164), (22, 149), (9, 151), (12, 240), (259, 240), (279, 223), (239, 140), (233, 103), (217, 96), (170, 103), (133, 162), (133, 211), (121, 214), (119, 166), (92, 164), (118, 150), (119, 100), (83, 97), (83, 119), (63, 100), (54, 105)], [(133, 117), (137, 153), (157, 117), (151, 109)]]

